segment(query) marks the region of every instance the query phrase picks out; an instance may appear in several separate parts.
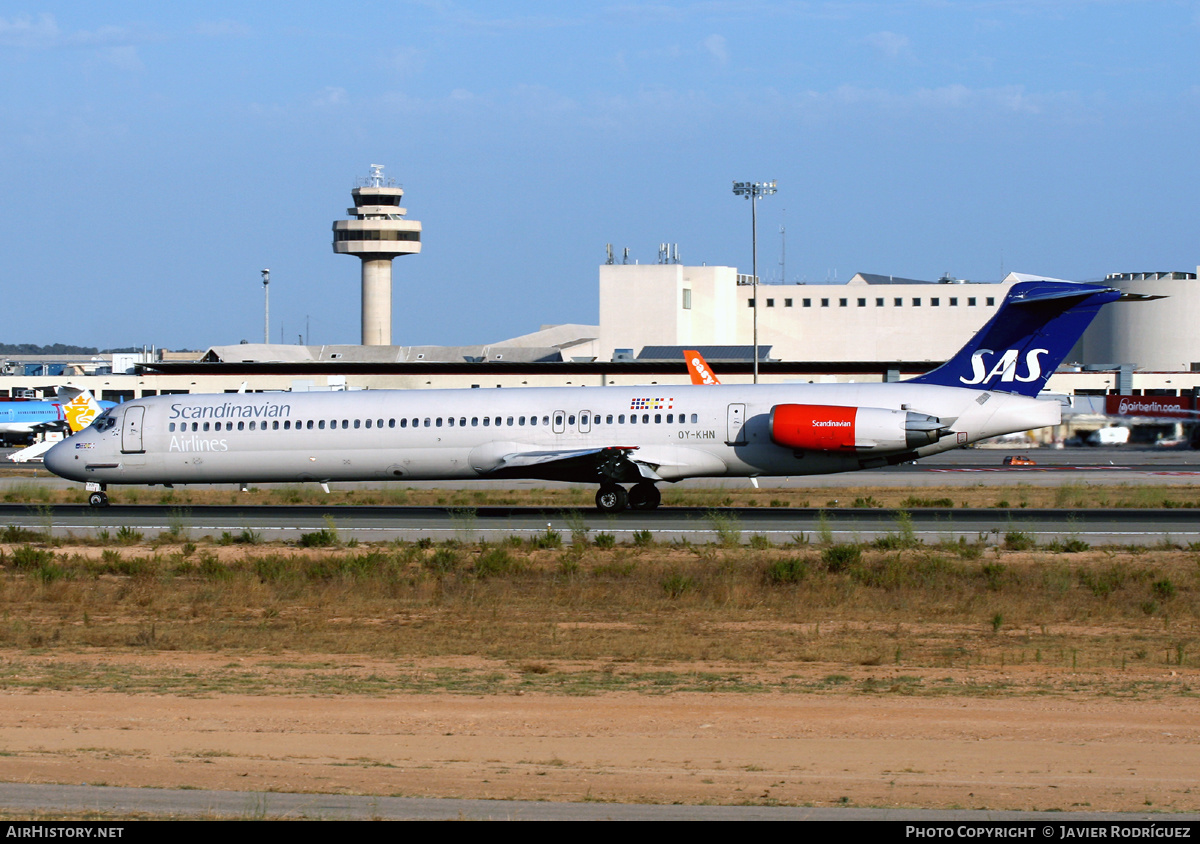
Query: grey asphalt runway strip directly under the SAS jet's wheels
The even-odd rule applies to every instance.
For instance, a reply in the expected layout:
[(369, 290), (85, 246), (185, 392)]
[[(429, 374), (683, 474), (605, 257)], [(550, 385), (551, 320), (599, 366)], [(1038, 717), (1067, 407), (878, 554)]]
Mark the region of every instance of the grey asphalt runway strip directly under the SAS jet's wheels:
[[(163, 532), (192, 538), (223, 533), (238, 537), (251, 532), (264, 541), (296, 541), (305, 533), (336, 527), (340, 538), (359, 541), (496, 541), (508, 537), (530, 538), (557, 532), (564, 544), (572, 532), (590, 537), (611, 533), (618, 543), (634, 541), (648, 531), (656, 541), (746, 543), (766, 537), (773, 544), (816, 541), (869, 541), (911, 531), (925, 543), (943, 540), (1003, 541), (1007, 533), (1033, 534), (1038, 541), (1079, 539), (1093, 545), (1156, 545), (1200, 543), (1200, 520), (1193, 509), (1019, 509), (1019, 508), (918, 508), (905, 511), (854, 508), (662, 508), (648, 513), (626, 511), (618, 516), (595, 510), (562, 510), (523, 507), (160, 507), (114, 505), (97, 509), (85, 504), (30, 507), (0, 504), (0, 525), (55, 535), (110, 535), (121, 528), (146, 538)], [(644, 535), (644, 534), (643, 534)]]

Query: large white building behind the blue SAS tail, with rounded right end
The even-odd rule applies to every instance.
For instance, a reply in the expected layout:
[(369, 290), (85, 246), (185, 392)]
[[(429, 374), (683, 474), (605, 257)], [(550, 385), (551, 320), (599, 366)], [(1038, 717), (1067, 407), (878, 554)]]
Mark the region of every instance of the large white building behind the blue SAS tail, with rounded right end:
[[(978, 283), (859, 273), (844, 285), (758, 285), (758, 345), (774, 360), (946, 360), (995, 315), (1013, 285), (1038, 277), (1010, 273)], [(647, 346), (750, 346), (751, 282), (732, 267), (602, 265), (600, 359)], [(1195, 273), (1122, 273), (1106, 282), (1169, 298), (1104, 309), (1072, 355), (1075, 363), (1200, 369)]]

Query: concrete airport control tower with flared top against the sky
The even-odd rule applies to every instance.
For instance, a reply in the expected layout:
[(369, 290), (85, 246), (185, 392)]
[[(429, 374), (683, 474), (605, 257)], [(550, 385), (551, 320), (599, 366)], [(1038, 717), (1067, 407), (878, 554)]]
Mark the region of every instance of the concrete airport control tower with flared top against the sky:
[(404, 220), (404, 190), (383, 178), (383, 164), (350, 191), (353, 220), (334, 222), (334, 251), (362, 259), (362, 345), (391, 346), (391, 259), (421, 251), (421, 223)]

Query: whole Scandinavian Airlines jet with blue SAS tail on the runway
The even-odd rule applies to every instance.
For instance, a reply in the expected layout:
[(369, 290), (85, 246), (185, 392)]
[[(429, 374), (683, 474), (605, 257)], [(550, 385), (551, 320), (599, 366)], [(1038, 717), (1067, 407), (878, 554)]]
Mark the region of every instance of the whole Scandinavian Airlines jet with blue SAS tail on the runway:
[[(108, 484), (532, 478), (658, 507), (659, 481), (895, 465), (1060, 421), (1038, 393), (1099, 307), (1097, 285), (1014, 285), (986, 325), (899, 383), (163, 395), (127, 401), (46, 466)], [(631, 484), (626, 491), (624, 484)]]

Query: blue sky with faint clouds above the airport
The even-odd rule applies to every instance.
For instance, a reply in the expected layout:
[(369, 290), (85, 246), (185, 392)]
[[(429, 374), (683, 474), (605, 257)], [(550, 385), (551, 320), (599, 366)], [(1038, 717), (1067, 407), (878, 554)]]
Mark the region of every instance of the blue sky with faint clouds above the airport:
[(397, 343), (596, 321), (605, 244), (760, 275), (1195, 269), (1200, 4), (0, 2), (5, 342), (359, 341), (371, 163), (424, 252)]

